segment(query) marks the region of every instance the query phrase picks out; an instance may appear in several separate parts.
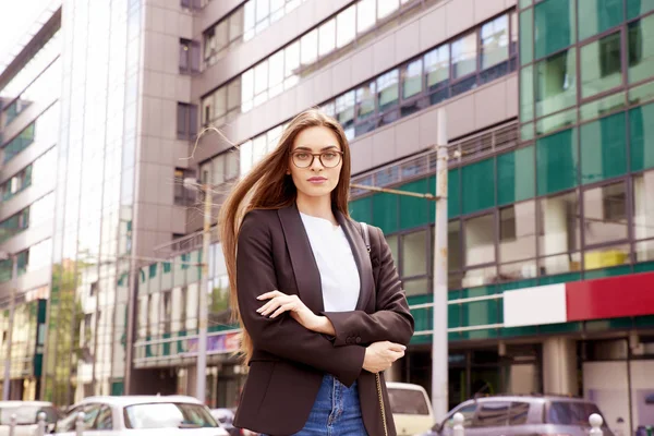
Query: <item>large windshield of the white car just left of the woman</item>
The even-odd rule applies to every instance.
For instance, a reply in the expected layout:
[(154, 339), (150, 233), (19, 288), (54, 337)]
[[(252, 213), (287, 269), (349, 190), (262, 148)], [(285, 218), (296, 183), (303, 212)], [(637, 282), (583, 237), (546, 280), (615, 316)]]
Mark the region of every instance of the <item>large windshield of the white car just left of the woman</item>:
[(145, 403), (125, 408), (128, 428), (217, 427), (209, 410), (191, 403)]

